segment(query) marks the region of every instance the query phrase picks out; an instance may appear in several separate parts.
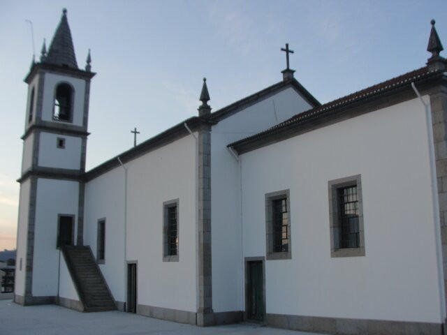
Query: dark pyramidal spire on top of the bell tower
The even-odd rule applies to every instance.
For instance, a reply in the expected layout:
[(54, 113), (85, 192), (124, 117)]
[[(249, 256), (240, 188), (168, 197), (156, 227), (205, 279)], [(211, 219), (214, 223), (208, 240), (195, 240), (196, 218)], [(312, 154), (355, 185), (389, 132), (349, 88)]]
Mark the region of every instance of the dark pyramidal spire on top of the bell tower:
[(61, 22), (54, 33), (53, 40), (47, 52), (45, 63), (69, 68), (78, 68), (75, 48), (68, 27), (67, 10), (62, 10)]

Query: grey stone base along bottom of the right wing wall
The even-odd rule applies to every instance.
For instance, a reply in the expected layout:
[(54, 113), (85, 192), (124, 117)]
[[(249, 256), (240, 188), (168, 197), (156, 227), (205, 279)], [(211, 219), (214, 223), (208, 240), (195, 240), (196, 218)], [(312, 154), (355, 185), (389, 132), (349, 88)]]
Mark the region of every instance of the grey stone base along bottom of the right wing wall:
[(321, 318), (316, 316), (267, 314), (271, 327), (340, 335), (442, 335), (441, 323)]

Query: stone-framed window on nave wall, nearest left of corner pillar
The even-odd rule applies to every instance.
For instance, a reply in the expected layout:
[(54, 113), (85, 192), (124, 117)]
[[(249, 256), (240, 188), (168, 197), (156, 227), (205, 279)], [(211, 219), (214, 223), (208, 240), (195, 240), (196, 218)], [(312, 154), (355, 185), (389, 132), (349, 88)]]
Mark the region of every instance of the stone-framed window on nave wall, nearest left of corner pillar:
[(179, 260), (179, 200), (163, 203), (163, 261)]

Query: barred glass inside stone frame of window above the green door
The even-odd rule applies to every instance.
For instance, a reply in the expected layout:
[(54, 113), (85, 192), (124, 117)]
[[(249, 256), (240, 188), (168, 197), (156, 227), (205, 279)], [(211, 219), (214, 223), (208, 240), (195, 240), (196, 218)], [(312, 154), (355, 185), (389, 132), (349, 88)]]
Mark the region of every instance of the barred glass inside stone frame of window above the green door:
[(272, 201), (273, 252), (288, 251), (287, 199)]

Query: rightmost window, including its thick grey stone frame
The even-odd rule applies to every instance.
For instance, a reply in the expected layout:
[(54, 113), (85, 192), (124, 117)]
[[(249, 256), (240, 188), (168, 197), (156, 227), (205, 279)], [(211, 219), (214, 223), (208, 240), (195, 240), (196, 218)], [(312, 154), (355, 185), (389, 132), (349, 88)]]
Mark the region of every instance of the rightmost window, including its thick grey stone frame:
[(331, 257), (365, 255), (360, 174), (328, 182)]

